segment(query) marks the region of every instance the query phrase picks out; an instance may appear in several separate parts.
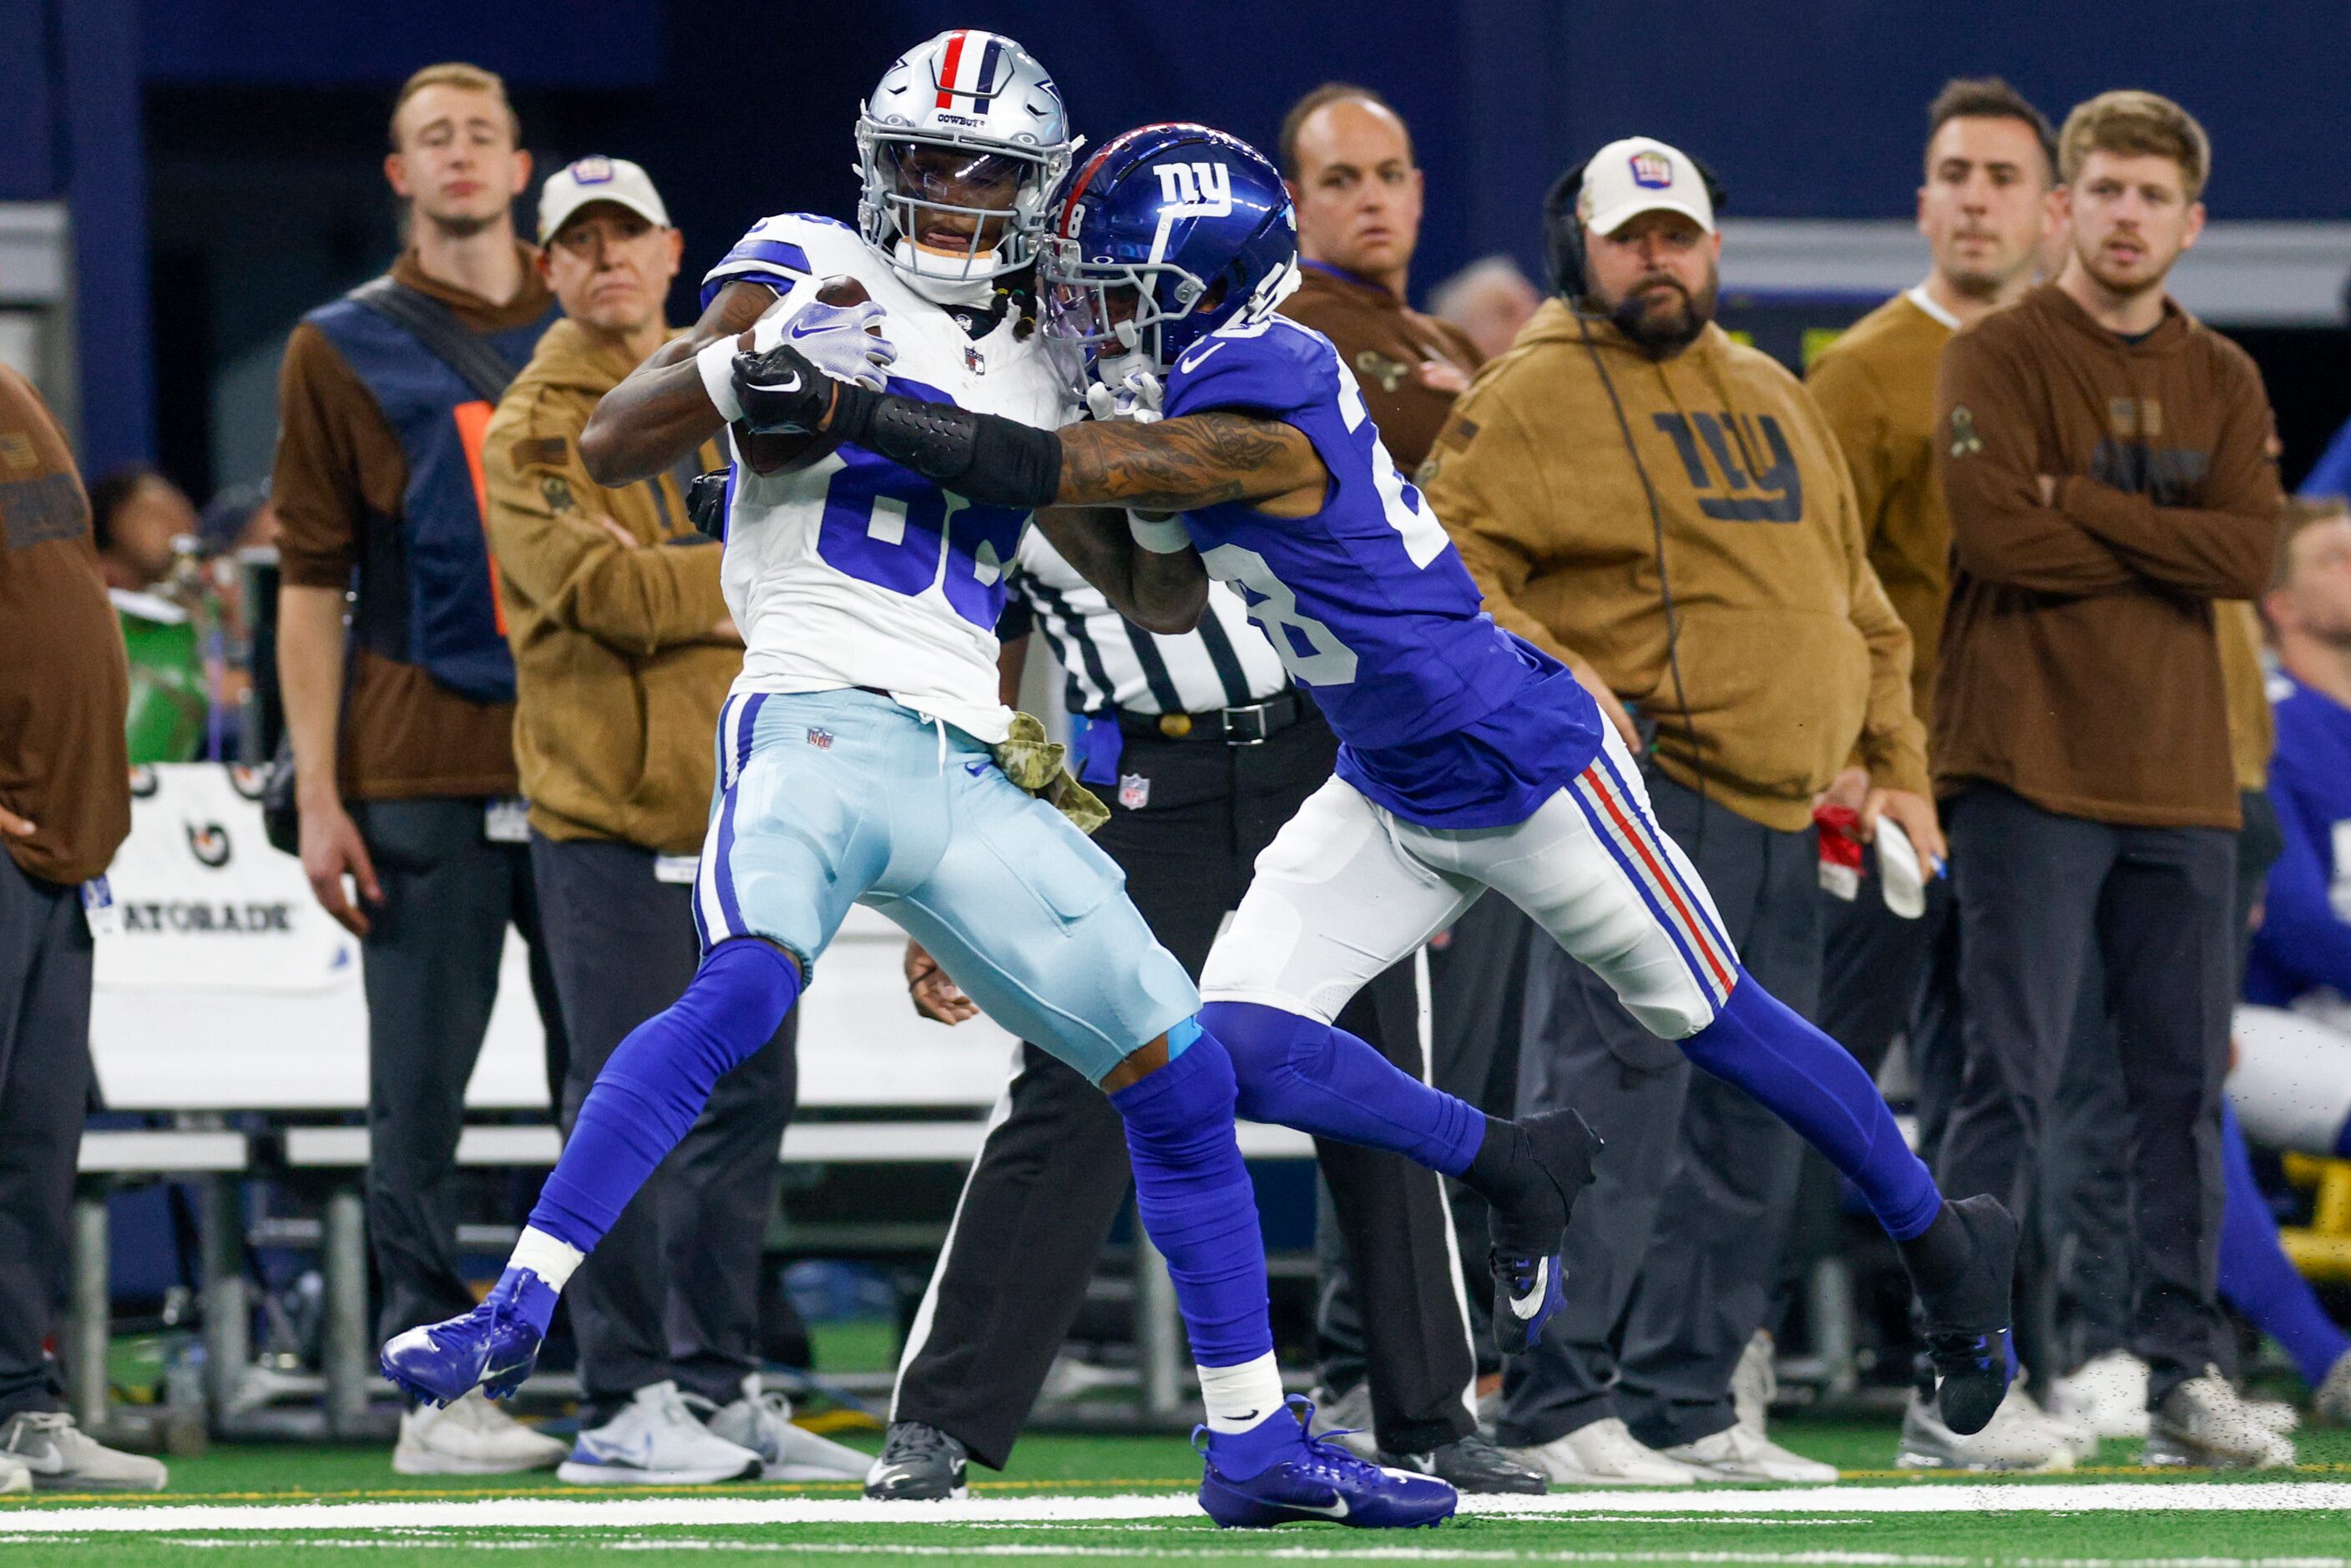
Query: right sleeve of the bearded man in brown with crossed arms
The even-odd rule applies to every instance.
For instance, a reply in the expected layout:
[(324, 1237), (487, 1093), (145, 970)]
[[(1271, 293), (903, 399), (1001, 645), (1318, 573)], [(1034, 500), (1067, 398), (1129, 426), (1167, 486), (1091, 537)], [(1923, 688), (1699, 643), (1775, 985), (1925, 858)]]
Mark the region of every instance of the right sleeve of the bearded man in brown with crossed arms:
[(2205, 468), (2203, 505), (2156, 505), (2083, 475), (2057, 489), (2057, 505), (2151, 583), (2255, 599), (2269, 588), (2285, 494), (2271, 456), (2276, 435), (2262, 374), (2233, 355), (2226, 364), (2229, 374), (2212, 388), (2226, 416)]

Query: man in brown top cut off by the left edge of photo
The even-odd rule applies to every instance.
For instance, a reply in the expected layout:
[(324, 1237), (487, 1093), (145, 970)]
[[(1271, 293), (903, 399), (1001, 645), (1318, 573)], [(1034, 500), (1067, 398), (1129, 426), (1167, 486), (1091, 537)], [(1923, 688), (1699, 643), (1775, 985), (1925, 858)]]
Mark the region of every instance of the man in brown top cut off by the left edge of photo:
[(47, 1354), (89, 1103), (92, 933), (132, 830), (127, 705), (66, 433), (0, 364), (0, 1493), (165, 1483), (73, 1425)]

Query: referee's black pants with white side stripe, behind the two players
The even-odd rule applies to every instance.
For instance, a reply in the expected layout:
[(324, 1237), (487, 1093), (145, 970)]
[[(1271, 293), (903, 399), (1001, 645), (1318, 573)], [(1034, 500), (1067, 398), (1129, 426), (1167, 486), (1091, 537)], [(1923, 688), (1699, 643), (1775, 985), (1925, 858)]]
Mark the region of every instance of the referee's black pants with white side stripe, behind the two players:
[[(1335, 757), (1312, 710), (1262, 745), (1126, 741), (1119, 773), (1150, 780), (1150, 797), (1136, 811), (1112, 802), (1093, 842), (1126, 870), (1126, 893), (1187, 971), (1199, 976), (1258, 851), (1331, 778)], [(1408, 961), (1375, 978), (1338, 1025), (1420, 1077)], [(1345, 1143), (1314, 1150), (1364, 1295), (1380, 1448), (1425, 1453), (1467, 1436), (1476, 1366), (1439, 1175)], [(907, 1335), (891, 1420), (938, 1427), (1002, 1469), (1131, 1180), (1110, 1100), (1023, 1044)]]

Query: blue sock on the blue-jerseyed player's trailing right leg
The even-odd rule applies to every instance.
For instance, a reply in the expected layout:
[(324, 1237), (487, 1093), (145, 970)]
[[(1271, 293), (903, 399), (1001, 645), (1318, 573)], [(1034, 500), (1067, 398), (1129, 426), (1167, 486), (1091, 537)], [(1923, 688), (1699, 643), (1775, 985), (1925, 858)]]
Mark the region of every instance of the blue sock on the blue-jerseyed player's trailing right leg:
[(1942, 1194), (1925, 1164), (1902, 1143), (1895, 1114), (1862, 1065), (1740, 969), (1730, 999), (1683, 1056), (1737, 1084), (1803, 1133), (1836, 1171), (1860, 1187), (1869, 1213), (1895, 1241), (1935, 1222)]

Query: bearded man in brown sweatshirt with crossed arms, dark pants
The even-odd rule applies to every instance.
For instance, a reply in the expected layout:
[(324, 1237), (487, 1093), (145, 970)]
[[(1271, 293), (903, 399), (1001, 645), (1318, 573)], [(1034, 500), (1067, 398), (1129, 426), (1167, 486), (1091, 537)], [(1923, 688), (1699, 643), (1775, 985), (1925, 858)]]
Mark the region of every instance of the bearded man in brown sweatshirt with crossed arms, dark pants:
[(1935, 430), (1935, 783), (1965, 994), (1937, 1175), (2015, 1190), (2095, 952), (2132, 1121), (2130, 1338), (2151, 1455), (2175, 1465), (2273, 1450), (2212, 1371), (2238, 827), (2212, 602), (2264, 588), (2283, 498), (2259, 371), (2163, 292), (2208, 169), (2168, 99), (2078, 106), (2064, 270), (1951, 341)]

